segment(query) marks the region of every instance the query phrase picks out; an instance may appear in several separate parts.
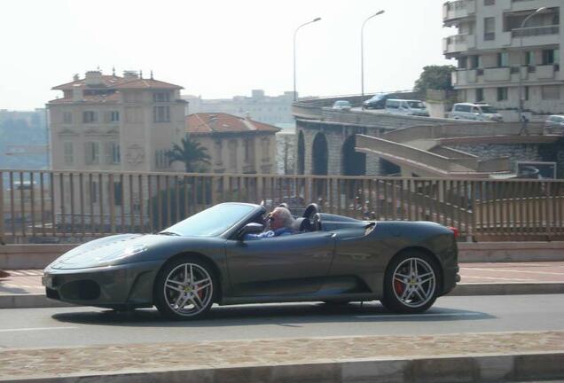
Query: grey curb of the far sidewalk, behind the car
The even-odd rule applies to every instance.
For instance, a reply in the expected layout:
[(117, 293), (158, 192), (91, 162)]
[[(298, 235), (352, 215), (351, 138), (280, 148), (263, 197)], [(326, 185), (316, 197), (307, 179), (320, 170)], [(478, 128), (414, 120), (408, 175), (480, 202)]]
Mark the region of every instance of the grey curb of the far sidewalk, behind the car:
[[(526, 295), (564, 293), (562, 282), (458, 284), (447, 296), (468, 295)], [(76, 307), (76, 305), (48, 299), (43, 294), (0, 295), (0, 309), (40, 309)]]

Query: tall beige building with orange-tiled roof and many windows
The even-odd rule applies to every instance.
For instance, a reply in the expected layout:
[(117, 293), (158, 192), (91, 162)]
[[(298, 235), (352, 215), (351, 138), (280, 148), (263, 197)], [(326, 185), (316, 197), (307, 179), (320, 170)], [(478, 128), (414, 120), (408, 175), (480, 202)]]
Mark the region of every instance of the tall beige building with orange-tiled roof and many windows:
[(89, 71), (52, 89), (63, 92), (47, 103), (53, 170), (168, 169), (161, 153), (184, 136), (181, 86)]

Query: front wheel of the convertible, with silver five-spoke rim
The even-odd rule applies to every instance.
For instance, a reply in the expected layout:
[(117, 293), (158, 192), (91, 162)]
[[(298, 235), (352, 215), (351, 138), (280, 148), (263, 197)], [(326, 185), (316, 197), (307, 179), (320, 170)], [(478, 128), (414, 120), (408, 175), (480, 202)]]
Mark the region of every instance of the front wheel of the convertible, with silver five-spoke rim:
[(215, 275), (208, 262), (183, 256), (166, 263), (154, 284), (155, 306), (174, 320), (204, 317), (215, 301)]

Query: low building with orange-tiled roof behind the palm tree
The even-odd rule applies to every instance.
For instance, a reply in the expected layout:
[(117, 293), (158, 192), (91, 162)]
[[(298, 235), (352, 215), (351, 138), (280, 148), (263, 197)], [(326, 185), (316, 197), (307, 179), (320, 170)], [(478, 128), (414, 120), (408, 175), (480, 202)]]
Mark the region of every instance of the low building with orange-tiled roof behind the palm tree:
[(204, 146), (212, 173), (277, 173), (279, 128), (227, 113), (193, 113), (186, 133)]

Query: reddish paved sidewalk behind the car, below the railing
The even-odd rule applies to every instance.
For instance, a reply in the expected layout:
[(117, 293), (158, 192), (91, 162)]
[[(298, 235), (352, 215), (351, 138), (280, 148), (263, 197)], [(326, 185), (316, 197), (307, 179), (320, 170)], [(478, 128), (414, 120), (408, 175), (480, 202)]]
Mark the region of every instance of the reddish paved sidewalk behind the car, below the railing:
[[(43, 270), (9, 270), (0, 279), (0, 309), (59, 307), (47, 300)], [(564, 262), (460, 263), (461, 281), (451, 295), (564, 293)]]

